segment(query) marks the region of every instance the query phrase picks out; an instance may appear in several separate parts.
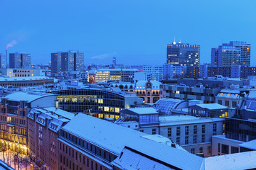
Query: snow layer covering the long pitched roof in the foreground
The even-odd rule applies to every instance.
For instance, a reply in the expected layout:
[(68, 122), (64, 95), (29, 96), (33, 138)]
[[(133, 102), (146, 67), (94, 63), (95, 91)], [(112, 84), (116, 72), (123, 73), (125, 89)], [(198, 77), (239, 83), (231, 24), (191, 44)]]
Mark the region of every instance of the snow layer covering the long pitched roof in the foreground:
[(143, 132), (79, 113), (63, 130), (119, 155), (124, 146), (180, 169), (201, 169), (203, 159), (180, 149), (147, 140)]

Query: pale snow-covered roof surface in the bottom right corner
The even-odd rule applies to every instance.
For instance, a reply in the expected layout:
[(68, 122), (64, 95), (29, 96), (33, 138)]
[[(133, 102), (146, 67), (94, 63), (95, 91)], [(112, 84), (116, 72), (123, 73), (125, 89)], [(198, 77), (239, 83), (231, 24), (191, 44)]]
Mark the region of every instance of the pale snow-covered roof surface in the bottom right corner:
[(205, 169), (253, 169), (256, 168), (256, 151), (225, 154), (205, 159)]

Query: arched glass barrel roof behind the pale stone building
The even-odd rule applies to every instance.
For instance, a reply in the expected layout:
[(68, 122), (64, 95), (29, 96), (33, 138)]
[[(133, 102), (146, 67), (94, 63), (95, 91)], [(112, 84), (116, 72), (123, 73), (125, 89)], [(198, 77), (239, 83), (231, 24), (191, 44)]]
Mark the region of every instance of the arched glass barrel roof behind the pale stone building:
[(171, 114), (171, 111), (174, 108), (177, 108), (178, 105), (185, 102), (184, 100), (174, 99), (174, 98), (161, 98), (156, 101), (154, 108), (159, 110), (162, 113)]

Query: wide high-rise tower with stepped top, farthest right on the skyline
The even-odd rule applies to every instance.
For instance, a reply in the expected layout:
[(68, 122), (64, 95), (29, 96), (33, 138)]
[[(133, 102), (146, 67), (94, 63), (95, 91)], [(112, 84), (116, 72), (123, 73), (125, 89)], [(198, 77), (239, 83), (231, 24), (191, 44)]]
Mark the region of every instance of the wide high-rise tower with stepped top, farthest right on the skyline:
[(230, 41), (223, 43), (218, 48), (212, 48), (211, 64), (218, 67), (250, 66), (250, 44), (242, 41)]

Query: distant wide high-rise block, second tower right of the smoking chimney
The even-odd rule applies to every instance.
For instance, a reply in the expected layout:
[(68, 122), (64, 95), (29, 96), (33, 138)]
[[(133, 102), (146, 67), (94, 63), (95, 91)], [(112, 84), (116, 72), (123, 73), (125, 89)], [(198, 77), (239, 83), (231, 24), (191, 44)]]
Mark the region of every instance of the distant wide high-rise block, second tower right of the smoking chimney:
[(78, 51), (51, 53), (52, 73), (80, 71), (84, 66), (84, 54)]

